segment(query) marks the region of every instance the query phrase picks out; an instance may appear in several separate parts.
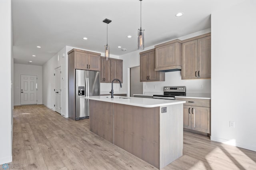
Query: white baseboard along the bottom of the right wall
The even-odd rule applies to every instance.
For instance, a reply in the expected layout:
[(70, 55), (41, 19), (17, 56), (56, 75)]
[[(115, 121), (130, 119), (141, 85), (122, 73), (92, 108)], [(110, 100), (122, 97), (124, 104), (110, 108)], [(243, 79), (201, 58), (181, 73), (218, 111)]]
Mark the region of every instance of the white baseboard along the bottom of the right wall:
[(237, 146), (239, 148), (244, 148), (244, 149), (256, 151), (256, 145), (239, 143), (239, 142), (236, 142), (235, 140), (226, 140), (226, 139), (217, 138), (217, 137), (214, 137), (214, 136), (211, 136), (211, 140), (216, 141), (216, 142), (220, 142), (220, 143), (224, 143), (224, 144), (228, 144), (228, 145), (232, 145), (232, 146)]

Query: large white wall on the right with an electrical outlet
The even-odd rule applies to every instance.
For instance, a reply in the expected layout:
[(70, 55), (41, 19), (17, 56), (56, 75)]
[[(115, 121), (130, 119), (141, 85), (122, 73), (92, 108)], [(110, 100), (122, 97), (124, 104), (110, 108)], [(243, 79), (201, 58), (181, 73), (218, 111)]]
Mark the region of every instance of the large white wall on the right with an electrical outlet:
[[(256, 2), (212, 13), (211, 139), (256, 151)], [(235, 122), (235, 128), (229, 127)]]

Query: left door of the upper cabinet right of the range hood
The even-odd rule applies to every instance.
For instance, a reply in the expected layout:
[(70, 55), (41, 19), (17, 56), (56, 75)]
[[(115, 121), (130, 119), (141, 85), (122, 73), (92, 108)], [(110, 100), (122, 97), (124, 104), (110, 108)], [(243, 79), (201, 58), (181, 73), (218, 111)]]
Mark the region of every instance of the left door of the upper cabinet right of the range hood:
[(182, 44), (182, 79), (198, 77), (198, 40)]

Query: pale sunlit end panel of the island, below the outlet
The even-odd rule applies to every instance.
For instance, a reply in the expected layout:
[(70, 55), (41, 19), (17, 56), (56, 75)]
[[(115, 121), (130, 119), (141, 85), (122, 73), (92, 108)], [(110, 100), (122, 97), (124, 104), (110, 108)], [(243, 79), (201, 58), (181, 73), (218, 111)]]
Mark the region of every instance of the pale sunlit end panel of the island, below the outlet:
[[(160, 113), (160, 165), (164, 168), (183, 154), (183, 104), (168, 105)], [(160, 107), (160, 110), (162, 107)]]

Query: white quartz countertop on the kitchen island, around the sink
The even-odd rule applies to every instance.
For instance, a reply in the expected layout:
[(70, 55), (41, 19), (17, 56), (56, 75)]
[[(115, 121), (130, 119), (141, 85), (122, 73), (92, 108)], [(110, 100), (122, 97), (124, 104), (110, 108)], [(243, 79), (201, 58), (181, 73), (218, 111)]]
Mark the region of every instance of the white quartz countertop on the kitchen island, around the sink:
[(186, 103), (185, 101), (177, 101), (177, 100), (148, 99), (148, 98), (140, 98), (140, 97), (120, 97), (120, 96), (114, 96), (114, 98), (111, 98), (111, 96), (89, 96), (89, 97), (81, 97), (81, 98), (110, 102), (110, 103), (118, 103), (123, 105), (132, 105), (132, 106), (138, 106), (138, 107), (161, 107), (161, 106)]

